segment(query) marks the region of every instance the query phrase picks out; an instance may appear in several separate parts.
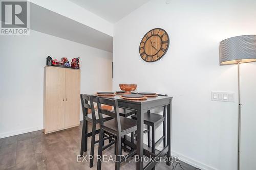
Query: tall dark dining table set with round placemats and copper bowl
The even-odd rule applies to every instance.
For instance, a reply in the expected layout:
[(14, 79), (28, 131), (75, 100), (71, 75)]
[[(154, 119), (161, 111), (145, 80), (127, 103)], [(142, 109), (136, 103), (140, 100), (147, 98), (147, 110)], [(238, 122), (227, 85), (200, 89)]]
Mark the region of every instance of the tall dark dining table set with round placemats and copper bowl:
[[(127, 100), (120, 98), (121, 94), (115, 94), (111, 96), (100, 96), (98, 94), (88, 94), (92, 95), (94, 102), (97, 102), (97, 97), (100, 98), (111, 98), (118, 100), (118, 107), (123, 109), (130, 109), (137, 111), (137, 141), (136, 144), (128, 140), (123, 140), (123, 142), (129, 147), (136, 149), (137, 161), (136, 169), (152, 169), (158, 163), (161, 157), (166, 155), (166, 164), (170, 166), (172, 162), (171, 157), (171, 146), (172, 146), (172, 96), (148, 96), (146, 100)], [(152, 110), (162, 106), (167, 106), (167, 143), (166, 146), (154, 154), (143, 148), (143, 132), (144, 132), (144, 114), (147, 110)], [(152, 113), (154, 114), (154, 113)], [(145, 166), (143, 166), (143, 157), (152, 157)]]

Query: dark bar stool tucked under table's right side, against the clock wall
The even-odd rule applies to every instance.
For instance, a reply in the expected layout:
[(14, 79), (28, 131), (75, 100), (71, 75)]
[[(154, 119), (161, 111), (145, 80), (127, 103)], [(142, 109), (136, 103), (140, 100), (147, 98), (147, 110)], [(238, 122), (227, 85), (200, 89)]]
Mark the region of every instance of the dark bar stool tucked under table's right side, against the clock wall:
[[(158, 94), (158, 96), (167, 96), (167, 94)], [(132, 119), (137, 120), (137, 115), (132, 115)], [(156, 141), (156, 126), (163, 123), (163, 136)], [(166, 146), (166, 106), (163, 106), (163, 115), (152, 113), (148, 110), (144, 113), (144, 124), (147, 125), (147, 145), (151, 147), (150, 127), (152, 127), (152, 153), (156, 153), (156, 144), (163, 140), (163, 147)], [(144, 131), (145, 132), (145, 131)], [(132, 140), (134, 138), (132, 133)], [(137, 136), (136, 136), (137, 137)], [(137, 138), (136, 138), (137, 139)]]

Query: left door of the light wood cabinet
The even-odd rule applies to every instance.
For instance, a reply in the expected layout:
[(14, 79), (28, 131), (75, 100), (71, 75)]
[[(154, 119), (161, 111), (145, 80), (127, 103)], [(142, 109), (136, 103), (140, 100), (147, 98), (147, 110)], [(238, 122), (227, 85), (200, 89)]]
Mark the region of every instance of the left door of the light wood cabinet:
[(46, 67), (45, 71), (44, 126), (49, 133), (65, 125), (65, 69)]

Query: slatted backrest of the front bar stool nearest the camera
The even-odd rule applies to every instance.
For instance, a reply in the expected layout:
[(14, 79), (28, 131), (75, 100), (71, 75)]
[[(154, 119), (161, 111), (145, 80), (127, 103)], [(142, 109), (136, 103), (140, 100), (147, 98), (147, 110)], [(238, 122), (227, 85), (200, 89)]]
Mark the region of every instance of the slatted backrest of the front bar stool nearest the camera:
[[(108, 105), (108, 106), (113, 106), (114, 111), (102, 109), (101, 104)], [(121, 132), (122, 130), (121, 130), (120, 115), (119, 115), (119, 110), (118, 110), (117, 99), (97, 97), (97, 105), (98, 105), (98, 114), (99, 114), (99, 124), (100, 124), (100, 126), (103, 125), (103, 116), (102, 116), (102, 114), (105, 114), (105, 115), (108, 115), (108, 116), (115, 117), (117, 132)]]

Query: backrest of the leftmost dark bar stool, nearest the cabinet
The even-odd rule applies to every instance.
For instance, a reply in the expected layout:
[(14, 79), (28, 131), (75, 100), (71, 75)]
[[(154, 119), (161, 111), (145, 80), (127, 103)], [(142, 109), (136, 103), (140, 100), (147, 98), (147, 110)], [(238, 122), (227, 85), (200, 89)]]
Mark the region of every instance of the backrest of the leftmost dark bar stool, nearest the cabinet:
[(87, 95), (87, 94), (80, 94), (80, 99), (81, 99), (81, 105), (82, 105), (83, 118), (88, 117), (88, 109), (91, 109), (92, 119), (93, 121), (95, 121), (96, 115), (95, 115), (95, 109), (93, 104), (93, 96)]

